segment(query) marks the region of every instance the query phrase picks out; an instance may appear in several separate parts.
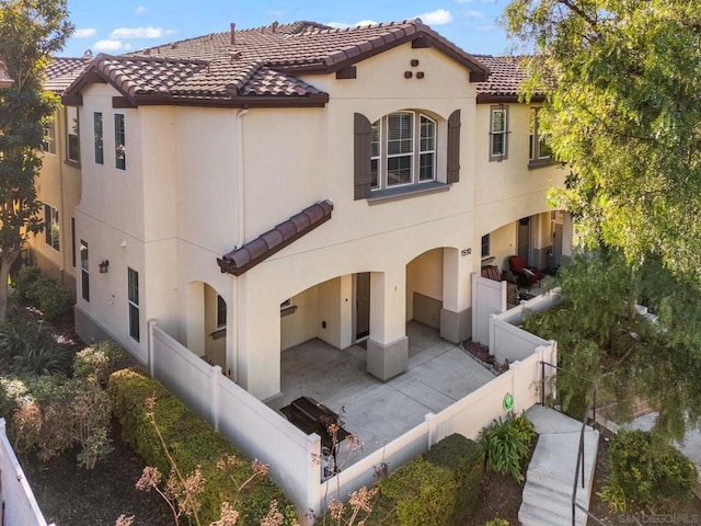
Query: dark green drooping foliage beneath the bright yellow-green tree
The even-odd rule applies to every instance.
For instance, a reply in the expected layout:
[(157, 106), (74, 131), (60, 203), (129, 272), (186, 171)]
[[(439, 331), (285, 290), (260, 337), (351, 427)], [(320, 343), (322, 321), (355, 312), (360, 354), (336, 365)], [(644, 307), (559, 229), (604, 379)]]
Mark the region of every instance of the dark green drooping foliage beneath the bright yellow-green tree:
[[(607, 418), (619, 422), (644, 400), (659, 411), (655, 433), (681, 438), (688, 420), (701, 416), (701, 307), (659, 260), (633, 267), (618, 249), (576, 253), (559, 279), (563, 300), (531, 313), (525, 328), (558, 341), (559, 396), (570, 414), (581, 418), (597, 386), (599, 409), (617, 403)], [(674, 296), (674, 298), (673, 298)], [(645, 304), (650, 317), (635, 308)], [(690, 329), (691, 328), (691, 329)]]

